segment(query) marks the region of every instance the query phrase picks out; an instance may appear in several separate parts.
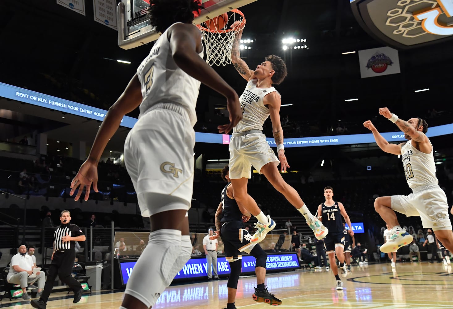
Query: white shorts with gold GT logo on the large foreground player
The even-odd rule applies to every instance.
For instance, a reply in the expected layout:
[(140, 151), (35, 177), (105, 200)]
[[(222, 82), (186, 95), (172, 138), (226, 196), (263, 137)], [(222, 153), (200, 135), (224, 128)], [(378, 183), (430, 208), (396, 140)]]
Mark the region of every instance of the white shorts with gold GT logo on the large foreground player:
[[(171, 103), (159, 103), (140, 116), (124, 145), (124, 161), (137, 193), (143, 217), (154, 213), (188, 210), (193, 193), (195, 132), (187, 112)], [(177, 208), (147, 205), (145, 193), (180, 198)], [(160, 208), (159, 208), (160, 207)]]

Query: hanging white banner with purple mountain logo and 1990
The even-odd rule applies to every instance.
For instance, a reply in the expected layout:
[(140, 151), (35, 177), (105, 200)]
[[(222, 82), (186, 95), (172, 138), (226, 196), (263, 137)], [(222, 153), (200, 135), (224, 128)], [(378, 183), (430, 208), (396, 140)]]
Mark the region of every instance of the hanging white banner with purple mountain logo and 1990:
[(362, 78), (400, 73), (398, 51), (390, 47), (359, 50), (359, 65)]

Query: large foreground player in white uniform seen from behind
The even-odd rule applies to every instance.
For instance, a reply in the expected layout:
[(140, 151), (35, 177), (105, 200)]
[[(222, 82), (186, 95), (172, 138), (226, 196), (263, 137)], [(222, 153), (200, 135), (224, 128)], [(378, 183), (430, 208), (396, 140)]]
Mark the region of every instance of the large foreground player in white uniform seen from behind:
[(228, 132), (241, 120), (236, 92), (202, 59), (201, 33), (192, 24), (193, 0), (151, 0), (150, 23), (162, 35), (111, 106), (71, 183), (77, 201), (86, 187), (97, 192), (97, 164), (123, 116), (140, 106), (139, 120), (125, 140), (124, 159), (142, 216), (149, 216), (149, 242), (134, 266), (120, 309), (148, 309), (192, 253), (187, 211), (193, 189), (195, 104), (200, 82), (227, 99)]

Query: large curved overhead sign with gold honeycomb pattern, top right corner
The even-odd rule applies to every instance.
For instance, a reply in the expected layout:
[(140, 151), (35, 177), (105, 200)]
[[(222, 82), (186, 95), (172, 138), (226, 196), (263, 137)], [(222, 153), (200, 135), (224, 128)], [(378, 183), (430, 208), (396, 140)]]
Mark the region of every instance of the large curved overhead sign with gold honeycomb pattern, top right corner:
[(360, 26), (387, 46), (409, 49), (452, 39), (452, 0), (350, 0)]

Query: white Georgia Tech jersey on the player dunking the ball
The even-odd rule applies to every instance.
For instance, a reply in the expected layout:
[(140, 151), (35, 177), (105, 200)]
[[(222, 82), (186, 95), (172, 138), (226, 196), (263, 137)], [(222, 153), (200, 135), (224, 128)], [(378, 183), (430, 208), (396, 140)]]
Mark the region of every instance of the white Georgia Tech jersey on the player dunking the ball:
[(241, 97), (239, 97), (242, 109), (242, 120), (234, 127), (234, 133), (249, 130), (263, 130), (264, 121), (269, 117), (269, 108), (263, 103), (264, 97), (277, 90), (275, 90), (274, 87), (257, 88), (256, 82), (258, 82), (257, 79), (249, 81), (246, 90), (244, 90)]

